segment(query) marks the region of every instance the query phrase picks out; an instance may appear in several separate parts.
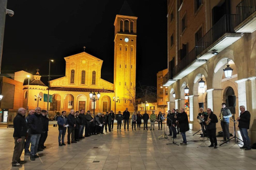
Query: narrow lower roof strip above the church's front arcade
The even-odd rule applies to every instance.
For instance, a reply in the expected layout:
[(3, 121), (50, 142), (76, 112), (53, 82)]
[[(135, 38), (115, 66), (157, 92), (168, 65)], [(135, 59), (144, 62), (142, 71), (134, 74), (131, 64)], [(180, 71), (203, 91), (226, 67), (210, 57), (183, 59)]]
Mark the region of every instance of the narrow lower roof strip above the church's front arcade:
[(50, 87), (50, 91), (71, 91), (71, 92), (105, 92), (113, 93), (114, 91), (109, 91), (105, 89), (87, 89), (87, 88), (74, 88), (74, 87)]

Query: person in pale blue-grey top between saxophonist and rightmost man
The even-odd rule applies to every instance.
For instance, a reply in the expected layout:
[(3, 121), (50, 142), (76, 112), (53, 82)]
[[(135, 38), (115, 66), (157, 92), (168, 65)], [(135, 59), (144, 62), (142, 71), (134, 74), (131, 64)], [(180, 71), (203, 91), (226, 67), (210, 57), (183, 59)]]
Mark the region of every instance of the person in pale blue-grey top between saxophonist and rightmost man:
[[(221, 119), (221, 128), (223, 131), (223, 140), (221, 140), (221, 142), (226, 142), (229, 143), (229, 118), (232, 116), (231, 111), (226, 108), (226, 103), (222, 103), (222, 108), (221, 108), (221, 113), (219, 115), (219, 117), (221, 118), (221, 116), (223, 117)], [(228, 141), (227, 141), (228, 140)]]

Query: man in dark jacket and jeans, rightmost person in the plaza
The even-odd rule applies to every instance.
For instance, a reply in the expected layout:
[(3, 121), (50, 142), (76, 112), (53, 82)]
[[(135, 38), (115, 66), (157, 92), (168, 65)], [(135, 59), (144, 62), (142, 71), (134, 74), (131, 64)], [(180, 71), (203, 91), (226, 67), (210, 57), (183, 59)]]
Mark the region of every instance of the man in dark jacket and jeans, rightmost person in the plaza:
[(237, 118), (237, 121), (239, 122), (238, 127), (239, 131), (241, 132), (242, 141), (244, 142), (244, 146), (240, 148), (245, 148), (245, 150), (251, 150), (250, 146), (250, 138), (248, 136), (248, 129), (250, 127), (250, 112), (245, 111), (244, 105), (241, 105), (240, 107), (240, 116)]

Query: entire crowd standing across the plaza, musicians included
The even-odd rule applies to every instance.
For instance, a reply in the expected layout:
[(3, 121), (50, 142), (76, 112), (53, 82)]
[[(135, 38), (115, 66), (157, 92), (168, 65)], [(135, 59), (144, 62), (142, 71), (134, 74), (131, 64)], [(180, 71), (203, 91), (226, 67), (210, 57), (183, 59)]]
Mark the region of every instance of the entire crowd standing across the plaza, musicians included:
[[(250, 113), (245, 111), (245, 107), (240, 107), (240, 116), (236, 119), (239, 122), (239, 130), (244, 142), (245, 150), (250, 150), (250, 139), (247, 130), (250, 126)], [(35, 110), (30, 110), (28, 116), (25, 117), (25, 108), (19, 108), (17, 115), (14, 118), (14, 154), (12, 158), (12, 166), (20, 167), (27, 161), (20, 160), (23, 149), (25, 149), (25, 155), (30, 155), (30, 161), (35, 161), (35, 158), (39, 158), (36, 154), (44, 150), (45, 141), (48, 137), (48, 126), (49, 119), (47, 118), (47, 111), (41, 110), (40, 107), (36, 107)], [(106, 112), (106, 115), (98, 113), (94, 115), (85, 110), (74, 111), (70, 110), (68, 116), (66, 116), (66, 111), (62, 111), (61, 116), (58, 116), (56, 120), (58, 121), (58, 142), (59, 146), (66, 145), (64, 138), (67, 131), (67, 144), (77, 143), (85, 137), (90, 137), (92, 135), (104, 134), (105, 132), (112, 132), (114, 126), (114, 119), (117, 121), (117, 131), (121, 131), (122, 122), (124, 121), (124, 131), (129, 131), (130, 124), (130, 112), (128, 108), (121, 114), (114, 114), (111, 110), (110, 113)], [(229, 117), (231, 115), (230, 110), (226, 108), (226, 104), (222, 103), (221, 113), (219, 115), (221, 121), (221, 127), (223, 128), (223, 142), (229, 142)], [(207, 131), (208, 137), (210, 138), (211, 144), (209, 147), (217, 148), (216, 140), (216, 123), (218, 123), (217, 116), (211, 111), (211, 108), (207, 108), (207, 113), (200, 108), (200, 113), (198, 113), (198, 119), (200, 119), (200, 124), (202, 126), (202, 131), (205, 133)], [(163, 129), (163, 121), (166, 119), (166, 124), (169, 129), (169, 136), (173, 136), (174, 139), (177, 138), (177, 134), (181, 133), (183, 142), (181, 145), (187, 145), (186, 131), (189, 131), (189, 120), (187, 113), (184, 108), (180, 111), (177, 109), (172, 109), (168, 111), (168, 115), (159, 112), (156, 116), (155, 111), (152, 111), (149, 116), (147, 111), (142, 115), (140, 111), (134, 112), (131, 116), (132, 121), (132, 131), (140, 130), (140, 126), (143, 120), (143, 130), (148, 130), (148, 120), (150, 119), (150, 130), (155, 130), (155, 122), (158, 122), (158, 130)], [(84, 132), (84, 136), (83, 136)], [(29, 150), (30, 148), (30, 150)]]

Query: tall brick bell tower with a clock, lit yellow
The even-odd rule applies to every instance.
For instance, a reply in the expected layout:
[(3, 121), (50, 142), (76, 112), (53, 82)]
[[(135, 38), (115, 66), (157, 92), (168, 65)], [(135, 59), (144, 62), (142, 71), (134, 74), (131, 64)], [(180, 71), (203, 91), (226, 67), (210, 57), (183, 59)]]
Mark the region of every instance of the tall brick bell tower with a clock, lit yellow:
[(116, 15), (114, 26), (114, 92), (116, 99), (119, 97), (116, 111), (124, 111), (126, 107), (134, 111), (129, 99), (130, 95), (135, 97), (137, 17), (126, 1)]

